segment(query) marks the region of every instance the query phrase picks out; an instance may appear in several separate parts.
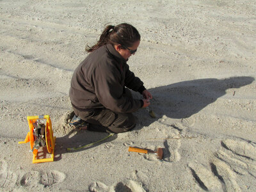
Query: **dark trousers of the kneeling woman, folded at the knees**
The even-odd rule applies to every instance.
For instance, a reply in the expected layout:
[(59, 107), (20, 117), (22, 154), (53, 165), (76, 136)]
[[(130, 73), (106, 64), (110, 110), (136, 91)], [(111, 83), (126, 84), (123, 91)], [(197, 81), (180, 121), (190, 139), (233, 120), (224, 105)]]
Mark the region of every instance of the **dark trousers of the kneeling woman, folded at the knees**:
[[(127, 88), (125, 97), (132, 97), (131, 91)], [(132, 113), (116, 113), (109, 109), (93, 109), (92, 111), (73, 109), (77, 116), (90, 124), (88, 127), (90, 131), (127, 132), (136, 125)]]

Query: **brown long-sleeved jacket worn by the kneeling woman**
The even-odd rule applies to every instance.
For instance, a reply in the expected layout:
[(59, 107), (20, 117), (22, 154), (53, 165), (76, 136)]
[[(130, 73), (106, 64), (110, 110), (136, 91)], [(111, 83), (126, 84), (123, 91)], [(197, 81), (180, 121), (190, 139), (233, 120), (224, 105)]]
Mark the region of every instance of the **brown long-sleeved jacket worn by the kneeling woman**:
[(118, 113), (132, 113), (143, 101), (124, 96), (125, 87), (142, 93), (140, 78), (113, 45), (103, 45), (91, 52), (74, 71), (69, 91), (74, 108), (80, 110), (110, 109)]

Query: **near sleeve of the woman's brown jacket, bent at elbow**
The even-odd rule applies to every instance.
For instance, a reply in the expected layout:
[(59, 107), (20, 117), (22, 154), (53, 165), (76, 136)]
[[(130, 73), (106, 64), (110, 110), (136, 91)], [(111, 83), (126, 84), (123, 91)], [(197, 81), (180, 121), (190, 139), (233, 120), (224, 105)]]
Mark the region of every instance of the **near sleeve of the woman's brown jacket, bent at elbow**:
[(132, 113), (141, 108), (139, 99), (132, 99), (123, 95), (121, 74), (116, 67), (101, 65), (95, 68), (92, 81), (95, 94), (99, 102), (111, 111), (118, 113)]

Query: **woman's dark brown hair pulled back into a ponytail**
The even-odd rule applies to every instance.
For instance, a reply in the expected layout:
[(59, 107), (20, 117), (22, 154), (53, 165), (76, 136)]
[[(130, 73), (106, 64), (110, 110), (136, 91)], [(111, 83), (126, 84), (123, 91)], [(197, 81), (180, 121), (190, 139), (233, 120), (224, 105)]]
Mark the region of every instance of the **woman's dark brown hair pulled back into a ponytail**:
[(92, 52), (102, 45), (112, 44), (112, 45), (123, 45), (124, 47), (132, 47), (134, 42), (140, 40), (140, 33), (134, 26), (127, 23), (118, 24), (117, 26), (106, 26), (102, 34), (100, 35), (100, 40), (97, 44), (89, 47), (86, 45), (86, 51)]

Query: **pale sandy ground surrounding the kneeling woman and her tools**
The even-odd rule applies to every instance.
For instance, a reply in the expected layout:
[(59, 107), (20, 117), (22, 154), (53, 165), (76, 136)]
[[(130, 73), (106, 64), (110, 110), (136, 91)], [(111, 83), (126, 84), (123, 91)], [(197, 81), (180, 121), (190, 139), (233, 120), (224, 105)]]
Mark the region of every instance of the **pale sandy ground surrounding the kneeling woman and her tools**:
[[(256, 191), (255, 13), (246, 0), (1, 0), (0, 191)], [(67, 152), (108, 136), (66, 126), (68, 89), (85, 45), (121, 22), (141, 33), (128, 64), (157, 118), (140, 109), (133, 131)], [(18, 144), (28, 115), (51, 116), (54, 162)]]

